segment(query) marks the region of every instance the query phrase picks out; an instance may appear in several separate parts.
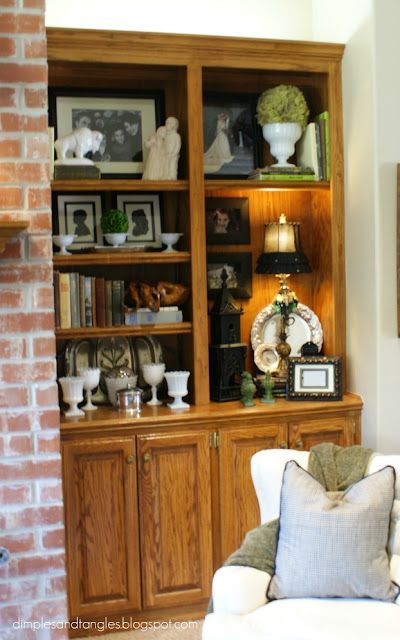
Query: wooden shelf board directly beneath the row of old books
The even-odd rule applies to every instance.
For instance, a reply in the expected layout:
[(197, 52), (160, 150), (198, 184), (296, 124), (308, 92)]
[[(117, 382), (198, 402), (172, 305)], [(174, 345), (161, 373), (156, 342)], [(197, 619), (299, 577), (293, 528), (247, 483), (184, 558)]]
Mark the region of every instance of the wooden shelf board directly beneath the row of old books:
[(148, 336), (175, 335), (192, 332), (191, 322), (174, 322), (171, 324), (122, 325), (120, 327), (82, 327), (56, 329), (56, 337), (62, 340), (79, 338), (101, 338), (106, 336)]

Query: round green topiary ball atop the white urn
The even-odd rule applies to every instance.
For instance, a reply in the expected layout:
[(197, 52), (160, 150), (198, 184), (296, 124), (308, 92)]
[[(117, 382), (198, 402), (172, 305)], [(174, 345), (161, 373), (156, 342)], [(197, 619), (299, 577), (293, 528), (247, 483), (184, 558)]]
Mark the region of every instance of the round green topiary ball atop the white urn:
[(306, 128), (310, 111), (303, 93), (290, 84), (267, 89), (257, 102), (257, 122), (261, 126), (275, 122), (297, 122)]

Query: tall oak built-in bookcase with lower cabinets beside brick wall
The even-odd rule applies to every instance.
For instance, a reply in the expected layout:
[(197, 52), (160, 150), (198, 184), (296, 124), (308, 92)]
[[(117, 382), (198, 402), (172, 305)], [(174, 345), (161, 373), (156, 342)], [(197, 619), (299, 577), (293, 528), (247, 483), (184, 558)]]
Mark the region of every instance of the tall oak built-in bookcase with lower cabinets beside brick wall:
[[(165, 115), (179, 119), (178, 180), (124, 178), (53, 182), (53, 193), (157, 192), (165, 230), (184, 233), (178, 254), (107, 253), (56, 257), (55, 268), (98, 273), (127, 268), (186, 282), (191, 297), (181, 325), (155, 335), (176, 346), (191, 371), (187, 412), (145, 408), (142, 418), (102, 408), (62, 419), (70, 613), (83, 618), (135, 612), (135, 619), (201, 615), (212, 572), (255, 526), (258, 511), (249, 459), (260, 448), (308, 449), (332, 440), (360, 441), (361, 401), (288, 402), (244, 410), (239, 402), (210, 403), (206, 279), (206, 197), (246, 197), (253, 295), (241, 301), (247, 367), (255, 373), (250, 328), (277, 291), (276, 279), (254, 273), (264, 224), (284, 212), (301, 223), (312, 272), (291, 277), (299, 300), (319, 317), (325, 355), (346, 364), (341, 58), (343, 47), (290, 41), (112, 31), (48, 29), (49, 85), (82, 90), (161, 92)], [(304, 92), (313, 119), (330, 114), (329, 182), (205, 179), (203, 95), (259, 95), (279, 83)], [(263, 162), (270, 161), (264, 143)], [(213, 248), (210, 248), (210, 251)], [(143, 276), (142, 276), (143, 277)], [(135, 334), (136, 332), (136, 334)], [(145, 335), (148, 327), (59, 330), (70, 338)], [(174, 342), (175, 341), (175, 342)], [(345, 376), (344, 376), (345, 379)], [(119, 478), (119, 480), (117, 480)], [(97, 501), (98, 499), (98, 501)], [(90, 514), (90, 515), (88, 515)], [(174, 519), (172, 526), (170, 518)]]

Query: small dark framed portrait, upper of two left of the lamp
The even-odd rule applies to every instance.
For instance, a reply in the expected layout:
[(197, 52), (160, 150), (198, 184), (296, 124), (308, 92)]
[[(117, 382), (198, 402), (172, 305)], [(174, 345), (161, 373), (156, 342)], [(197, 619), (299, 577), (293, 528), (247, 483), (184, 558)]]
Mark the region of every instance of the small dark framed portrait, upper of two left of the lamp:
[(207, 244), (249, 244), (248, 198), (206, 198)]

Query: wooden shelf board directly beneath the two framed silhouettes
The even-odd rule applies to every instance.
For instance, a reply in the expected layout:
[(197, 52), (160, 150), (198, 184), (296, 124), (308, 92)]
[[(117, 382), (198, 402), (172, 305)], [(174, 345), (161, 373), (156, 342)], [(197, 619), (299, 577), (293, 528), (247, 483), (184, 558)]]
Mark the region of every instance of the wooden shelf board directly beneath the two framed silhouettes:
[(75, 253), (70, 256), (55, 254), (53, 263), (55, 267), (83, 267), (86, 265), (109, 264), (179, 264), (190, 262), (189, 251), (164, 252), (164, 251), (121, 251), (112, 252), (94, 251), (93, 253)]

